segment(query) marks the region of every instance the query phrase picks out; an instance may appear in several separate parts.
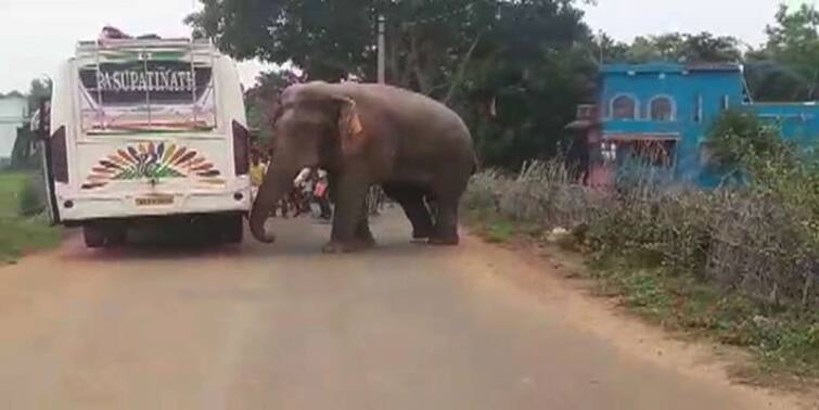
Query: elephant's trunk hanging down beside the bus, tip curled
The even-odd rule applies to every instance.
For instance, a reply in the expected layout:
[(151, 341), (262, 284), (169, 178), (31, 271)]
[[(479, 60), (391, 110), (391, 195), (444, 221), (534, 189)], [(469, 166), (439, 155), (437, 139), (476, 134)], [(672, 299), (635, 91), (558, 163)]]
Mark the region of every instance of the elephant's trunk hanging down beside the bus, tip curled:
[(293, 189), (293, 179), (297, 172), (298, 168), (295, 164), (273, 161), (270, 165), (251, 210), (251, 233), (259, 242), (273, 243), (276, 241), (276, 235), (265, 230), (265, 222), (276, 209), (276, 205)]

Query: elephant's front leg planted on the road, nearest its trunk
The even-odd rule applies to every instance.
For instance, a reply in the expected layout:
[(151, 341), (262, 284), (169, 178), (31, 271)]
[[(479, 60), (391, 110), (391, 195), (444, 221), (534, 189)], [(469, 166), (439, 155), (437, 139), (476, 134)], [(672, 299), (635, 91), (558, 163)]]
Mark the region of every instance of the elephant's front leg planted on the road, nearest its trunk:
[(325, 253), (360, 251), (374, 244), (367, 222), (364, 202), (369, 182), (366, 178), (345, 174), (334, 178), (335, 215)]

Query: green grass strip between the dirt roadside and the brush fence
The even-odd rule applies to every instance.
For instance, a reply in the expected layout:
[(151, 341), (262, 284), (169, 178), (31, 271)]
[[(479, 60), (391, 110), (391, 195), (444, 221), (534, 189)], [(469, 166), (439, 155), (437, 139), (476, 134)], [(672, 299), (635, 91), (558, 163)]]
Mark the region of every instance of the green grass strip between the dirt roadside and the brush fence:
[[(495, 210), (465, 209), (464, 221), (491, 243), (548, 236)], [(812, 385), (819, 380), (819, 312), (720, 290), (643, 255), (594, 255), (565, 240), (554, 245), (584, 253), (589, 267), (584, 276), (593, 280), (600, 296), (618, 298), (625, 309), (664, 329), (752, 353), (756, 360), (738, 371), (746, 382)]]

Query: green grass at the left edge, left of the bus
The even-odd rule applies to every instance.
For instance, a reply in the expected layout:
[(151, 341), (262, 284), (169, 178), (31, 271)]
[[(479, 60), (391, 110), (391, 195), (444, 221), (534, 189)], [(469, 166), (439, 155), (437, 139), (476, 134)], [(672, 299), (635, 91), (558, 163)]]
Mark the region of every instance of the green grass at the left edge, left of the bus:
[(50, 227), (43, 216), (21, 216), (30, 183), (29, 174), (0, 172), (0, 264), (60, 243), (60, 229)]

